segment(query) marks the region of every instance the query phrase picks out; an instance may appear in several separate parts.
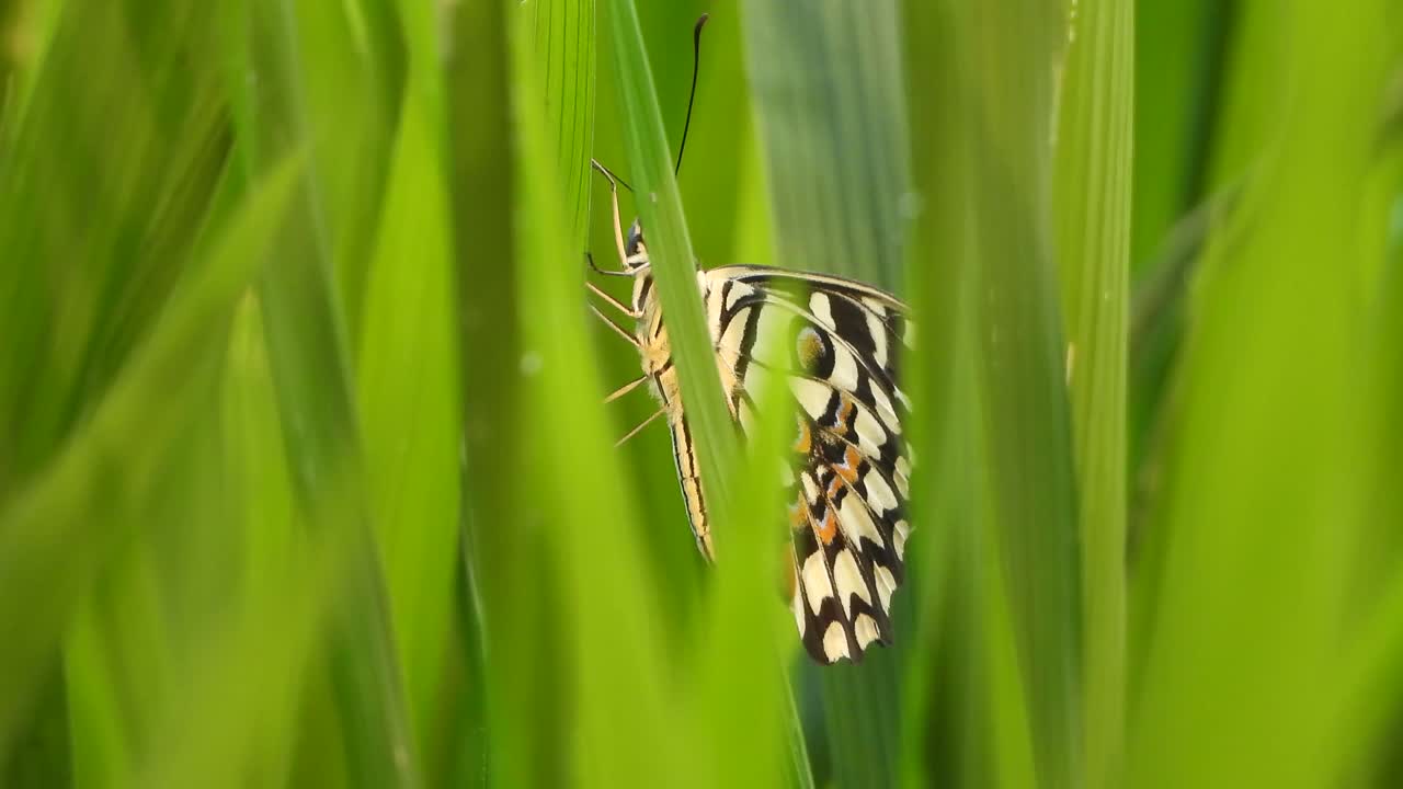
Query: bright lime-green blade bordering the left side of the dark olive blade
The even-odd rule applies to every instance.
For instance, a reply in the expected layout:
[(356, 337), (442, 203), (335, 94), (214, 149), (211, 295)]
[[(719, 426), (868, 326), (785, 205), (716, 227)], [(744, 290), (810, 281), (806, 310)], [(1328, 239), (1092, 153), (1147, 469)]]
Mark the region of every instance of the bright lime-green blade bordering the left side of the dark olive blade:
[[(408, 81), (387, 173), (379, 239), (365, 274), (356, 383), (366, 477), (390, 621), (425, 776), (449, 747), (448, 699), (459, 524), (459, 385), (438, 31), (432, 8), (405, 3)], [(442, 781), (442, 779), (439, 779)]]

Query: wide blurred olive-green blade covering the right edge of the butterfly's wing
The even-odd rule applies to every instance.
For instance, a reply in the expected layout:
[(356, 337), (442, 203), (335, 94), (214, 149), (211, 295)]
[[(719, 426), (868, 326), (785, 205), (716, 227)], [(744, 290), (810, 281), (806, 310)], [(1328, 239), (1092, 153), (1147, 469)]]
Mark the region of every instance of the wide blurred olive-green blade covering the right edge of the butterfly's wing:
[[(1017, 785), (1013, 778), (1031, 771), (1027, 722), (1021, 698), (999, 692), (1019, 688), (1019, 675), (1016, 664), (995, 653), (1012, 642), (1005, 595), (986, 599), (1002, 580), (993, 570), (998, 545), (986, 533), (981, 494), (969, 323), (976, 84), (953, 3), (908, 0), (902, 11), (911, 139), (920, 140), (911, 152), (919, 211), (906, 258), (919, 347), (908, 354), (905, 369), (916, 403), (911, 435), (922, 458), (912, 480), (913, 522), (920, 531), (908, 548), (918, 616), (902, 694), (902, 776), (908, 786)], [(1012, 703), (1000, 703), (1010, 696)], [(1021, 747), (1010, 745), (1019, 733)]]

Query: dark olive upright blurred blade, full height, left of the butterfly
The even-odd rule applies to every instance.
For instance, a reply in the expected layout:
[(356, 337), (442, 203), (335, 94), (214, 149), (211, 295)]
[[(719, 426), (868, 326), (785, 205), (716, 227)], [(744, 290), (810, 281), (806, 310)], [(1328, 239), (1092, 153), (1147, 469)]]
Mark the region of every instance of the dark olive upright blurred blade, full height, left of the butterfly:
[(464, 760), (473, 761), (463, 771), (478, 786), (544, 786), (561, 781), (561, 757), (551, 747), (561, 727), (553, 706), (557, 685), (539, 679), (556, 671), (553, 656), (539, 649), (550, 635), (549, 590), (535, 583), (544, 552), (516, 511), (512, 482), (523, 452), (506, 8), (502, 1), (452, 7), (443, 76), (462, 331), (460, 539), (466, 591), (476, 595), (463, 623), (476, 628), (467, 637), (467, 649), (476, 647), (467, 653), (469, 681), (476, 682), (466, 692), (473, 698), (469, 715), (477, 716), (466, 722), (471, 741)]

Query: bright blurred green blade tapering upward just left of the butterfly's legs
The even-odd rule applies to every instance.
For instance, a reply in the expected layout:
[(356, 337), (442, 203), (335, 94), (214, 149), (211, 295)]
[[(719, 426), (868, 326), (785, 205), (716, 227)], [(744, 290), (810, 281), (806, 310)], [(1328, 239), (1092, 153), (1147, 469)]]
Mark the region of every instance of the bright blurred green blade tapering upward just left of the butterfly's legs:
[[(522, 95), (539, 95), (544, 74), (529, 46), (528, 22), (516, 17), (508, 28), (513, 84)], [(542, 562), (550, 562), (546, 583), (556, 591), (542, 611), (549, 637), (560, 644), (558, 695), (549, 701), (568, 703), (571, 720), (550, 757), (563, 758), (565, 775), (585, 786), (617, 786), (637, 775), (700, 782), (703, 762), (686, 747), (690, 717), (666, 691), (673, 672), (651, 591), (658, 580), (644, 562), (643, 521), (630, 479), (609, 451), (599, 406), (607, 387), (584, 331), (585, 267), (579, 251), (567, 246), (564, 185), (546, 156), (553, 135), (537, 102), (522, 101), (515, 110), (515, 180), (522, 187), (513, 195), (521, 274), (515, 375), (532, 418), (521, 425), (522, 465), (511, 484), (518, 517), (544, 549), (542, 556), (515, 557), (532, 562), (532, 576), (519, 580), (539, 584)], [(540, 494), (540, 479), (553, 480), (550, 497)]]

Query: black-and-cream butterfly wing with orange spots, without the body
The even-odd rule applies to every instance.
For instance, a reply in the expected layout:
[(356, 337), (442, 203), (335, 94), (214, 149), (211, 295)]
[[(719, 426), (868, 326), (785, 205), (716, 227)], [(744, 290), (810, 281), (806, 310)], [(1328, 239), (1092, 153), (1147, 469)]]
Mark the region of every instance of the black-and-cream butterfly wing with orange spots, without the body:
[(815, 660), (857, 661), (873, 642), (890, 643), (891, 597), (905, 576), (904, 307), (845, 279), (758, 267), (707, 271), (702, 286), (727, 400), (745, 430), (772, 376), (787, 378), (798, 420), (790, 602)]

